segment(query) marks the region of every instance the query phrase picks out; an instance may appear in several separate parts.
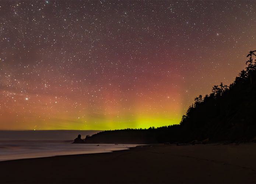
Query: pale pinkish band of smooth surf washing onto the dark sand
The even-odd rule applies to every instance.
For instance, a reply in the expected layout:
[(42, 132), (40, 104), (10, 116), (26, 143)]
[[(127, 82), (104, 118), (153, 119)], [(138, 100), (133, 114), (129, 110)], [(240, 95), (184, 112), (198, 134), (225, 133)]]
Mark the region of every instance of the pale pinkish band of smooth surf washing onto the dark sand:
[(107, 153), (125, 150), (137, 146), (134, 144), (63, 144), (62, 142), (49, 144), (48, 142), (27, 143), (9, 141), (0, 144), (0, 162), (6, 160), (20, 160), (30, 158), (44, 158), (61, 155), (83, 155), (93, 153)]

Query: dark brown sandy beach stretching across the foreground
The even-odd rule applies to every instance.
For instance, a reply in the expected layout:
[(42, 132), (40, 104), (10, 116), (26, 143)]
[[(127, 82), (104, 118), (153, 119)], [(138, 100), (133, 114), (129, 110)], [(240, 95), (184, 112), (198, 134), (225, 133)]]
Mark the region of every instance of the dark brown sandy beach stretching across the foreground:
[(256, 144), (152, 145), (3, 161), (0, 183), (256, 183)]

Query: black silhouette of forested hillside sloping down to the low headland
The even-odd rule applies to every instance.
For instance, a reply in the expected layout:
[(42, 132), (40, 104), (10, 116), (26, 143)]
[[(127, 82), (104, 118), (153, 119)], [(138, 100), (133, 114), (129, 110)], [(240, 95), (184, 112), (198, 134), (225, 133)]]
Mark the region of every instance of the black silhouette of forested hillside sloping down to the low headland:
[[(85, 143), (204, 143), (246, 142), (256, 136), (256, 50), (247, 55), (247, 67), (229, 86), (214, 85), (199, 95), (180, 124), (148, 129), (107, 130), (87, 136)], [(150, 123), (150, 122), (149, 122)]]

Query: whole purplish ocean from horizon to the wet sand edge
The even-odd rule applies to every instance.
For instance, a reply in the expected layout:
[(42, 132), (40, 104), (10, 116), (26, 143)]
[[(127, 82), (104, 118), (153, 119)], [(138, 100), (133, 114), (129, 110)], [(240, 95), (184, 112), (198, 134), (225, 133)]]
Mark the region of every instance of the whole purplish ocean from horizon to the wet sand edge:
[(57, 155), (104, 153), (129, 149), (127, 144), (71, 144), (78, 134), (84, 139), (97, 130), (0, 131), (0, 161)]

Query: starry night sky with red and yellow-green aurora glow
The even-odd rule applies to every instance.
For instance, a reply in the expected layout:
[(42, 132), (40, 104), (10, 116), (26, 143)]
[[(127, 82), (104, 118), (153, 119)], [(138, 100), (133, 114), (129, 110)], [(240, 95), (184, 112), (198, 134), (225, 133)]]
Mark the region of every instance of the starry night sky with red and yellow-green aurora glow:
[(0, 129), (177, 124), (256, 49), (256, 1), (0, 1)]

